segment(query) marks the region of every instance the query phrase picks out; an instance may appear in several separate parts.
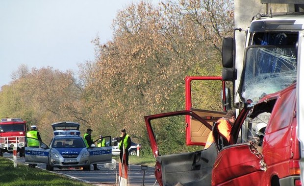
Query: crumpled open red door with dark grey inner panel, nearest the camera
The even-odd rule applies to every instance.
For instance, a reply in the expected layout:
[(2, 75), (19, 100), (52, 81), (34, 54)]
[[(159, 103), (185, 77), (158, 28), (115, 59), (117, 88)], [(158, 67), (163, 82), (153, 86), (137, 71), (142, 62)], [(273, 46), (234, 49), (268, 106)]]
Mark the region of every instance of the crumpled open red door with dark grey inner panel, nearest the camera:
[[(192, 111), (177, 111), (145, 116), (152, 153), (156, 159), (155, 177), (162, 186), (172, 186), (178, 183), (183, 186), (209, 186), (211, 184), (211, 170), (217, 155), (215, 145), (211, 145), (205, 150), (160, 156), (155, 137), (157, 133), (154, 133), (153, 130), (154, 127), (157, 130), (158, 126), (154, 126), (153, 122), (152, 128), (152, 121), (160, 118), (184, 115), (190, 116), (208, 128), (208, 130), (212, 130), (212, 126), (206, 120)], [(163, 123), (160, 122), (159, 124)], [(172, 125), (174, 125), (174, 123), (172, 123)], [(185, 125), (187, 125), (187, 123)]]

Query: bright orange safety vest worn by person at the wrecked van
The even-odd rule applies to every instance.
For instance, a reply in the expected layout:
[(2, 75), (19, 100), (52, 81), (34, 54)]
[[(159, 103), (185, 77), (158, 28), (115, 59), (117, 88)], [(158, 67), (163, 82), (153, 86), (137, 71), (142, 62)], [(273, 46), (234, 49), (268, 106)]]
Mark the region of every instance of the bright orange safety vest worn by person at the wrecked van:
[[(231, 132), (231, 129), (232, 129), (232, 125), (231, 125), (230, 121), (227, 118), (222, 117), (217, 121), (217, 123), (219, 123), (218, 124), (219, 132), (221, 134), (223, 134), (227, 138), (227, 140), (229, 141), (230, 140), (230, 132)], [(212, 132), (211, 132), (209, 134), (208, 138), (207, 138), (205, 149), (208, 148), (213, 143), (213, 141), (214, 141), (214, 139), (213, 139)]]

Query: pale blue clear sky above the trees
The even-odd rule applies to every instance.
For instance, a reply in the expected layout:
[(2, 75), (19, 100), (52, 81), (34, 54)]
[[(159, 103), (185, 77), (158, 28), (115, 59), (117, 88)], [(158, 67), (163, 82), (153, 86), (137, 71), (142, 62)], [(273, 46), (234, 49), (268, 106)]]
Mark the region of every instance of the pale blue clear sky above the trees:
[(94, 61), (91, 41), (110, 41), (118, 11), (139, 1), (0, 0), (0, 87), (22, 64), (77, 71), (78, 64)]

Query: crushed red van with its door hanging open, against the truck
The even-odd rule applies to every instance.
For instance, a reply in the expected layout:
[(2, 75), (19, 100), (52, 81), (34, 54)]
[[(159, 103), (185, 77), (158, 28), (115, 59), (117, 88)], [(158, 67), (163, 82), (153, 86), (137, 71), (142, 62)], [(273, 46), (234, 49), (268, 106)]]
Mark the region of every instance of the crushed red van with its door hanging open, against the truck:
[[(161, 155), (154, 122), (186, 116), (187, 140), (204, 145), (211, 131), (215, 142), (207, 148)], [(230, 140), (218, 132), (216, 120), (225, 112), (192, 109), (145, 116), (160, 186), (301, 186), (300, 146), (297, 139), (296, 83), (245, 103), (231, 130)], [(172, 123), (174, 125), (174, 123)], [(156, 129), (157, 130), (157, 129)]]

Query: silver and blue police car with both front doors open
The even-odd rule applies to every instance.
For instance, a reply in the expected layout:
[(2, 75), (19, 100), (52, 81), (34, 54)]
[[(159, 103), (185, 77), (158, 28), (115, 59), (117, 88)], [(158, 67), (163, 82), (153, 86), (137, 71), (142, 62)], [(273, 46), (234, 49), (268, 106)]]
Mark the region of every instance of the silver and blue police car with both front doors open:
[(80, 136), (79, 126), (74, 122), (53, 123), (54, 137), (50, 147), (42, 141), (39, 141), (39, 146), (25, 147), (25, 163), (46, 164), (47, 170), (51, 171), (54, 167), (91, 170), (91, 163), (111, 163), (111, 146), (95, 147), (93, 144), (92, 148), (87, 148)]

